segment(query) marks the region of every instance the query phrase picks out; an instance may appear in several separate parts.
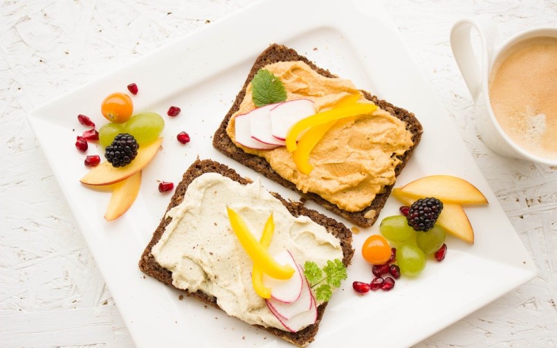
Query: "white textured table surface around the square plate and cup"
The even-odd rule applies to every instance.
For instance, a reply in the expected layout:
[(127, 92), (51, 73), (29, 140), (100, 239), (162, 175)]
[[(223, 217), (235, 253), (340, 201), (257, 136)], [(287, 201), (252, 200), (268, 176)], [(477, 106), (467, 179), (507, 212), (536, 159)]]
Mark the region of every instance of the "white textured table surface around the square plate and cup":
[[(253, 2), (0, 2), (0, 347), (134, 346), (26, 113)], [(464, 16), (493, 16), (503, 39), (557, 26), (557, 2), (383, 4), (539, 271), (417, 347), (557, 347), (557, 168), (502, 158), (477, 138), (448, 44)]]

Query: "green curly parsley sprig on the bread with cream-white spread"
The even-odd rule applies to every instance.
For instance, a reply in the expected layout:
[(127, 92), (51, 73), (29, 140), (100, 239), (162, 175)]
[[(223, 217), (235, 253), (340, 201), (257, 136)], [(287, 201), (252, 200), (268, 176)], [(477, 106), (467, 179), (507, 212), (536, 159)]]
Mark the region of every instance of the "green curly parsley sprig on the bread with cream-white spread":
[(304, 264), (304, 275), (311, 289), (319, 285), (316, 289), (316, 299), (322, 302), (329, 301), (333, 294), (333, 287), (340, 287), (340, 282), (348, 277), (346, 266), (340, 259), (327, 260), (323, 268), (315, 262), (307, 261)]

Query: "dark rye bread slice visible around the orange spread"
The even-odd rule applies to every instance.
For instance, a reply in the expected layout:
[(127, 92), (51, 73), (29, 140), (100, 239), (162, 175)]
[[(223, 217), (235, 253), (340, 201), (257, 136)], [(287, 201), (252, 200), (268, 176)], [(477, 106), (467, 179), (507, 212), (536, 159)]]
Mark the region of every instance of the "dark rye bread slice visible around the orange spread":
[[(299, 55), (293, 49), (287, 48), (286, 46), (282, 45), (272, 44), (265, 51), (263, 51), (263, 53), (261, 53), (261, 55), (259, 55), (257, 59), (255, 59), (255, 63), (253, 64), (253, 67), (248, 74), (246, 82), (244, 82), (244, 86), (236, 96), (234, 104), (232, 104), (230, 111), (228, 111), (224, 120), (221, 122), (219, 129), (217, 129), (214, 134), (212, 145), (215, 149), (218, 149), (226, 156), (234, 159), (235, 161), (238, 161), (239, 163), (242, 163), (243, 165), (246, 165), (247, 167), (250, 167), (256, 172), (263, 174), (267, 178), (280, 183), (284, 187), (288, 187), (289, 189), (298, 192), (300, 195), (316, 201), (316, 203), (322, 205), (328, 210), (331, 210), (331, 212), (335, 212), (336, 214), (345, 217), (352, 223), (360, 227), (372, 226), (376, 221), (379, 212), (381, 212), (381, 209), (385, 205), (385, 202), (387, 201), (387, 198), (389, 197), (394, 185), (385, 187), (383, 192), (377, 194), (372, 203), (363, 210), (360, 210), (359, 212), (348, 212), (347, 210), (338, 208), (338, 206), (336, 206), (334, 203), (323, 199), (318, 194), (315, 194), (313, 192), (301, 192), (296, 188), (294, 183), (286, 180), (285, 178), (282, 178), (282, 176), (277, 174), (277, 172), (275, 172), (273, 168), (271, 168), (271, 165), (269, 165), (264, 158), (253, 154), (247, 154), (246, 152), (244, 152), (244, 150), (240, 149), (234, 143), (232, 143), (232, 140), (230, 139), (228, 134), (226, 134), (226, 127), (228, 126), (230, 117), (239, 109), (241, 101), (244, 100), (244, 96), (246, 95), (246, 88), (251, 80), (253, 80), (255, 73), (257, 73), (260, 68), (263, 68), (268, 64), (276, 62), (292, 62), (298, 60), (307, 63), (314, 71), (316, 71), (320, 75), (323, 75), (325, 77), (338, 77), (330, 73), (328, 70), (319, 68), (318, 66), (316, 66), (316, 64), (310, 62), (306, 57)], [(414, 145), (402, 156), (399, 156), (399, 158), (401, 159), (401, 163), (395, 168), (395, 174), (396, 176), (399, 176), (403, 167), (406, 165), (406, 163), (408, 163), (410, 156), (412, 156), (412, 152), (414, 152), (414, 149), (420, 141), (422, 134), (421, 124), (413, 113), (405, 109), (395, 107), (393, 104), (390, 104), (385, 100), (379, 100), (375, 95), (372, 95), (367, 91), (362, 91), (362, 93), (365, 95), (366, 99), (371, 100), (376, 105), (378, 105), (378, 107), (381, 107), (381, 109), (391, 113), (392, 116), (403, 120), (403, 122), (405, 122), (406, 124), (406, 129), (408, 129), (412, 133), (412, 142), (414, 143)]]

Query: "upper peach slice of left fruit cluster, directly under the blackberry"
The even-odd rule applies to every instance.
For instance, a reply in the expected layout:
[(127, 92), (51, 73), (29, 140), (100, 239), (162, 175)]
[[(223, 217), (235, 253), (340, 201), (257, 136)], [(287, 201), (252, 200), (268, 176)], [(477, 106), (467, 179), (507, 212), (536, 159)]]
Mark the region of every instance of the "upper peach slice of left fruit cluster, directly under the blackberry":
[(137, 151), (134, 161), (125, 167), (115, 168), (108, 162), (103, 162), (85, 174), (81, 182), (87, 185), (110, 185), (129, 178), (151, 162), (159, 149), (163, 138), (157, 138), (152, 143), (142, 145)]

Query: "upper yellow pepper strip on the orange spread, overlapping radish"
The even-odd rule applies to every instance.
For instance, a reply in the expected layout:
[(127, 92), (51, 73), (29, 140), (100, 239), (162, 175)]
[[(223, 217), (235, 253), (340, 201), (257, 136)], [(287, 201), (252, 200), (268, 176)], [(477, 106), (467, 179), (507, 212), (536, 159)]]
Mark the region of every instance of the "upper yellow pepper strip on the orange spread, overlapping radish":
[(362, 115), (363, 113), (371, 113), (375, 111), (375, 109), (377, 109), (377, 107), (374, 104), (356, 103), (345, 107), (335, 107), (304, 118), (293, 125), (291, 129), (289, 129), (288, 134), (286, 134), (286, 149), (288, 149), (289, 152), (294, 152), (297, 148), (296, 140), (298, 136), (309, 127), (323, 125), (334, 120), (340, 120), (341, 118)]

